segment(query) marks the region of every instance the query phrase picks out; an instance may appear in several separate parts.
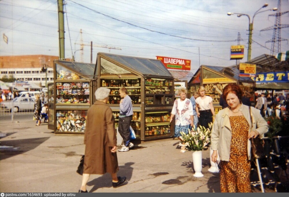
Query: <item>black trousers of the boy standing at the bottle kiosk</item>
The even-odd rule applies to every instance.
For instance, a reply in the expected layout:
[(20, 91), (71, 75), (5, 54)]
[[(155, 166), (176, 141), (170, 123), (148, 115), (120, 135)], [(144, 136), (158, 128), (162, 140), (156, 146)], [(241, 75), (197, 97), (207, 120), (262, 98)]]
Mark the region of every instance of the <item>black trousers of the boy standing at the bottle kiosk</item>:
[(132, 116), (127, 116), (127, 117), (118, 119), (118, 133), (123, 138), (123, 144), (125, 146), (128, 146), (129, 141), (130, 141), (129, 126), (130, 126), (131, 120), (132, 120)]

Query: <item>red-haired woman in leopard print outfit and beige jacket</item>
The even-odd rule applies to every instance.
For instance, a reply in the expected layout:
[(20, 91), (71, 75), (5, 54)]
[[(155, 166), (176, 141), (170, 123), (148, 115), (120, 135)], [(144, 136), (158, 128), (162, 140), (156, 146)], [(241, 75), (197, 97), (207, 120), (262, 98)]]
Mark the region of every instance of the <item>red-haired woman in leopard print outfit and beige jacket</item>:
[[(228, 107), (218, 112), (211, 134), (211, 159), (217, 162), (220, 156), (221, 192), (252, 192), (250, 185), (251, 137), (263, 136), (268, 131), (267, 122), (260, 110), (242, 104), (242, 90), (237, 84), (228, 84), (223, 89)], [(258, 126), (258, 127), (257, 127)], [(249, 131), (249, 128), (252, 128)], [(217, 152), (218, 151), (218, 152)]]

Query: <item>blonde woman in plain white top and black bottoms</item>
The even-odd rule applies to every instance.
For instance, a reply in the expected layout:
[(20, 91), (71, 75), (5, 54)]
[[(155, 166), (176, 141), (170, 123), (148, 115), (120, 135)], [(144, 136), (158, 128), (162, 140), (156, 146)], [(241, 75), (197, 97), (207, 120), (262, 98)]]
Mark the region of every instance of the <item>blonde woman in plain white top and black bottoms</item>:
[(213, 107), (213, 99), (205, 95), (205, 88), (200, 86), (199, 97), (196, 99), (196, 112), (199, 117), (199, 125), (205, 128), (209, 127), (209, 123), (213, 122), (215, 110)]

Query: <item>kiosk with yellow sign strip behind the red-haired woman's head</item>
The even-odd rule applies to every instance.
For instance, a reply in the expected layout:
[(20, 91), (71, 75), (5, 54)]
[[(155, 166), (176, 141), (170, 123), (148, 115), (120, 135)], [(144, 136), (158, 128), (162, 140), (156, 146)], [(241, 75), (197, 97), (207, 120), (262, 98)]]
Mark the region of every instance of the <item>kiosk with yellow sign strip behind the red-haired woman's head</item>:
[(250, 101), (254, 102), (254, 81), (250, 77), (239, 77), (239, 68), (201, 65), (192, 79), (188, 82), (190, 94), (198, 91), (200, 86), (205, 87), (205, 94), (212, 97), (215, 114), (222, 107), (219, 105), (223, 88), (228, 83), (238, 83), (243, 91), (250, 95)]

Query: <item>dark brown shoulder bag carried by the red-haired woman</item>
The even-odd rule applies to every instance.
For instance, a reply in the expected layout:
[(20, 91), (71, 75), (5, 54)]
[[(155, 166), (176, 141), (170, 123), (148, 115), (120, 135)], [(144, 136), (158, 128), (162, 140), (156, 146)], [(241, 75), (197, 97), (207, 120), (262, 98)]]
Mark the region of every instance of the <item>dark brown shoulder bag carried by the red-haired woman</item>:
[[(253, 128), (253, 120), (252, 120), (252, 113), (251, 113), (251, 107), (249, 107), (250, 112), (250, 120), (251, 120), (251, 129)], [(257, 137), (251, 137), (251, 160), (259, 159), (264, 155), (264, 146), (263, 146), (263, 140), (260, 139), (260, 136)]]

